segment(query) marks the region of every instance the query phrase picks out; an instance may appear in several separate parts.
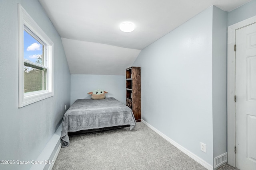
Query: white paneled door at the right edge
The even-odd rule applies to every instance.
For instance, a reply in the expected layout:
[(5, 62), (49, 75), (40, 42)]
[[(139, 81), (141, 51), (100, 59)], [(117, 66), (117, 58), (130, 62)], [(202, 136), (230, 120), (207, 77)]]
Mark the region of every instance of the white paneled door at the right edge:
[(256, 23), (236, 30), (236, 167), (256, 170)]

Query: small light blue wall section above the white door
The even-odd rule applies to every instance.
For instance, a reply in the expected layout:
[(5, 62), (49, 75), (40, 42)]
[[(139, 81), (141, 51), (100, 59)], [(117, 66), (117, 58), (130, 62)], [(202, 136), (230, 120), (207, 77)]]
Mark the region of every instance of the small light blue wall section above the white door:
[(228, 12), (228, 26), (256, 16), (256, 0)]

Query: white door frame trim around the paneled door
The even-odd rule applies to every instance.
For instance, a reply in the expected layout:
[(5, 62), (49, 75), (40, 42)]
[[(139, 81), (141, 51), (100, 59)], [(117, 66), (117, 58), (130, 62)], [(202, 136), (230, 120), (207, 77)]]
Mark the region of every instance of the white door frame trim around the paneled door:
[(236, 69), (236, 53), (234, 45), (236, 42), (236, 30), (252, 23), (256, 23), (256, 16), (240, 21), (228, 26), (228, 80), (227, 80), (227, 131), (228, 131), (228, 164), (236, 167), (236, 154), (234, 152), (236, 146), (236, 105), (235, 96), (235, 69)]

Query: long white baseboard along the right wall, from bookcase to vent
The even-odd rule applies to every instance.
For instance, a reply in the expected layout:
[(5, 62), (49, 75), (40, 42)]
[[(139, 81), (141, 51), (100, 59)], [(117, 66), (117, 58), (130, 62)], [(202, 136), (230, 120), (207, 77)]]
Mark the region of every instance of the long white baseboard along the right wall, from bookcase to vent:
[(204, 166), (206, 169), (208, 170), (213, 170), (213, 166), (210, 165), (208, 162), (206, 162), (205, 160), (203, 160), (202, 158), (198, 157), (197, 155), (195, 155), (194, 153), (190, 152), (189, 150), (187, 150), (186, 148), (182, 147), (180, 144), (176, 143), (175, 141), (173, 141), (172, 139), (170, 139), (169, 137), (167, 137), (166, 135), (164, 135), (162, 132), (158, 131), (156, 128), (154, 128), (152, 125), (148, 124), (146, 121), (144, 121), (143, 119), (141, 119), (141, 122), (144, 123), (145, 125), (147, 125), (150, 129), (152, 129), (153, 131), (155, 131), (158, 135), (160, 135), (161, 137), (163, 137), (166, 141), (170, 142), (172, 145), (174, 145), (176, 148), (178, 148), (179, 150), (181, 150), (182, 152), (184, 152), (186, 155), (188, 155), (190, 158), (194, 159), (196, 162), (198, 162), (199, 164), (201, 164), (202, 166)]

